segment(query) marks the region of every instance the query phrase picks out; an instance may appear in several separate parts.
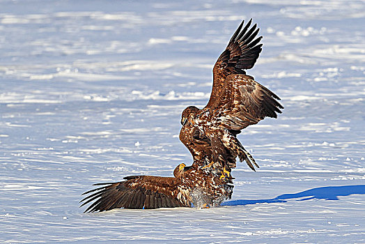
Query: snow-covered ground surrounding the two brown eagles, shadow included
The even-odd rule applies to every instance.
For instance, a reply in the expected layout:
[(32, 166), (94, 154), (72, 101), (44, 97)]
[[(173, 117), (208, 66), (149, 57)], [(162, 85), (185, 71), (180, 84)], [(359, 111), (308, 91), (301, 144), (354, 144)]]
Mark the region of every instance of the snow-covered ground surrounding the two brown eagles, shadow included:
[[(365, 2), (0, 1), (0, 243), (365, 243)], [(239, 136), (219, 208), (82, 214), (81, 193), (171, 176), (242, 19), (284, 113)]]

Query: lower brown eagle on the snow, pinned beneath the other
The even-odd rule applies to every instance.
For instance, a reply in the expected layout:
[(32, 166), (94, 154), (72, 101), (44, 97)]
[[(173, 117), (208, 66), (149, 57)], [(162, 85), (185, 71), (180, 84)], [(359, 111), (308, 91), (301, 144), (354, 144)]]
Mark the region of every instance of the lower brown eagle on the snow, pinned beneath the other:
[[(217, 206), (224, 199), (231, 199), (233, 184), (226, 178), (210, 174), (193, 164), (180, 164), (173, 171), (174, 177), (127, 176), (125, 181), (98, 183), (100, 188), (89, 190), (80, 201), (92, 202), (86, 212), (107, 211), (114, 208), (198, 208)], [(92, 193), (92, 194), (91, 194)]]

